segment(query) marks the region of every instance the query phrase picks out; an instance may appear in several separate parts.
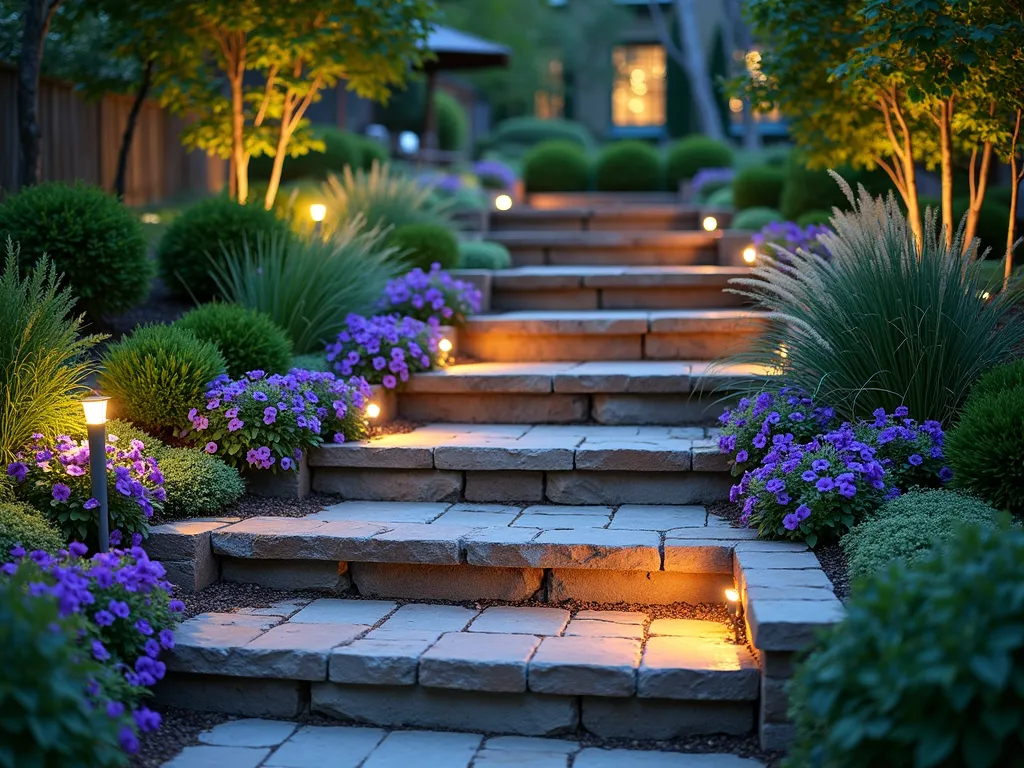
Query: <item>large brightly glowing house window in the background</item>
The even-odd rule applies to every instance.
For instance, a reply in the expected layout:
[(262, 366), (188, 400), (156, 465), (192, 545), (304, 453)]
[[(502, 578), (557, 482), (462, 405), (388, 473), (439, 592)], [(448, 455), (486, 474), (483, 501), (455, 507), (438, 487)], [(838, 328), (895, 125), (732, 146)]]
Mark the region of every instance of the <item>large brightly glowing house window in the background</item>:
[(616, 127), (665, 125), (665, 48), (616, 45), (611, 51), (611, 123)]

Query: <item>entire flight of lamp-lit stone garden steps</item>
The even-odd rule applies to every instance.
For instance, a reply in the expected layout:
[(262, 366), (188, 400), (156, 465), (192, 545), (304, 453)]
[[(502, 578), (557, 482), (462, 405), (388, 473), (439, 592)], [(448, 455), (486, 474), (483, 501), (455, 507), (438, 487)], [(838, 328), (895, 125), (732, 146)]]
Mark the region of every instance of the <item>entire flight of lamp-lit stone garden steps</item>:
[[(254, 766), (282, 742), (285, 762), (266, 765), (312, 765), (288, 760), (336, 738), (358, 755), (353, 766), (368, 755), (368, 766), (401, 755), (565, 766), (574, 755), (594, 768), (725, 768), (758, 763), (630, 762), (511, 736), (787, 743), (795, 653), (843, 608), (803, 544), (758, 541), (706, 506), (728, 496), (712, 425), (743, 373), (711, 364), (762, 323), (722, 291), (749, 268), (749, 236), (708, 231), (709, 215), (724, 226), (728, 214), (676, 203), (538, 202), (478, 223), (513, 267), (459, 275), (484, 296), (455, 340), (472, 361), (380, 401), (382, 418), (417, 426), (309, 454), (303, 482), (337, 503), (153, 529), (145, 547), (181, 589), (223, 580), (332, 593), (186, 621), (160, 700), (374, 726), (330, 736), (236, 723), (209, 744), (242, 744)], [(667, 612), (678, 603), (712, 607)], [(381, 730), (406, 726), (463, 733)], [(189, 754), (212, 760), (216, 749)], [(431, 750), (460, 757), (422, 762)]]

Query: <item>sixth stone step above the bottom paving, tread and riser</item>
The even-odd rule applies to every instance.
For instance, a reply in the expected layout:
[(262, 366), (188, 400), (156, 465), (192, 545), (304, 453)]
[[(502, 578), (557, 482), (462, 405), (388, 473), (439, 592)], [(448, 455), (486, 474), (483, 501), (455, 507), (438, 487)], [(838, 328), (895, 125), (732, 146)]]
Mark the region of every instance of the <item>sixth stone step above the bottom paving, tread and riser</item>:
[(495, 272), (492, 307), (519, 309), (703, 309), (738, 307), (725, 293), (741, 266), (525, 266)]

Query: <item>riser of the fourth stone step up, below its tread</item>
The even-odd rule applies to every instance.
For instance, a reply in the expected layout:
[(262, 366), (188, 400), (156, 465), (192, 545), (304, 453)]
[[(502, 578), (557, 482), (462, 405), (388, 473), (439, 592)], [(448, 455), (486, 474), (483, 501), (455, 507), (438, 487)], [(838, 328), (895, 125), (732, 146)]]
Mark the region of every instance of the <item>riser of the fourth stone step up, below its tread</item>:
[(401, 392), (397, 413), (416, 422), (716, 426), (720, 395), (687, 393)]

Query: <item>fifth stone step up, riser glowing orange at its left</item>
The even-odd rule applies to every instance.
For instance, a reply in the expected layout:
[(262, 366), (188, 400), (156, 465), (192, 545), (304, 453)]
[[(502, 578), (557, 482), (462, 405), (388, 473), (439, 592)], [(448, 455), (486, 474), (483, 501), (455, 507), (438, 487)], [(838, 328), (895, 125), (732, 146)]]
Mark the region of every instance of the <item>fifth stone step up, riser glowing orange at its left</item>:
[(460, 353), (482, 361), (712, 360), (765, 328), (748, 309), (520, 311), (470, 317)]

